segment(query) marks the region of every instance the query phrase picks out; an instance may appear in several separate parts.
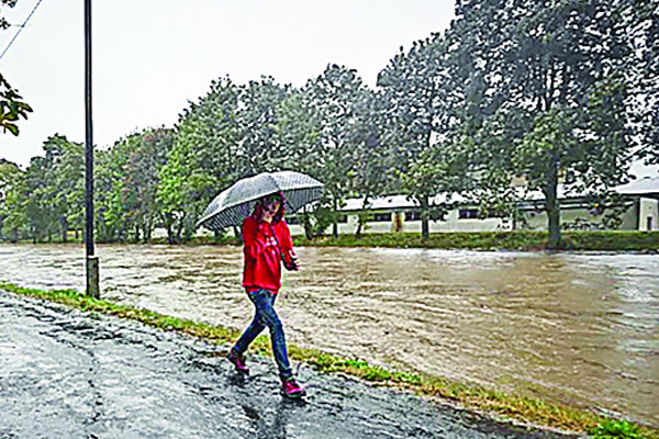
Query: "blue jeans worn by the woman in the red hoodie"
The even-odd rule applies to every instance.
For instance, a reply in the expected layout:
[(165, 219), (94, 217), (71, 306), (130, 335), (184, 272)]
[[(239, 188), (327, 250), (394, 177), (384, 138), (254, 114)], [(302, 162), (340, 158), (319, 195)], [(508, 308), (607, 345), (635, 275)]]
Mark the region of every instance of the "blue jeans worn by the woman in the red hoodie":
[(288, 360), (288, 351), (286, 349), (286, 337), (283, 336), (283, 325), (279, 316), (275, 312), (275, 299), (277, 294), (272, 294), (268, 290), (256, 290), (247, 293), (252, 303), (256, 307), (254, 319), (245, 329), (236, 345), (234, 352), (243, 354), (252, 341), (266, 328), (270, 329), (270, 340), (272, 341), (272, 353), (279, 369), (279, 378), (281, 381), (290, 380), (293, 376), (291, 365)]

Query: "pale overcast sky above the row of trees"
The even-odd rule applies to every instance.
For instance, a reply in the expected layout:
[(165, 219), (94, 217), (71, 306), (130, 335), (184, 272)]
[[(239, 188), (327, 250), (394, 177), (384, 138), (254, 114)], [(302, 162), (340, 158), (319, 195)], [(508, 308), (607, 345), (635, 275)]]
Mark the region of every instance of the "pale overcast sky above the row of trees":
[[(2, 8), (22, 24), (38, 0)], [(92, 1), (93, 135), (99, 147), (149, 126), (172, 126), (213, 79), (272, 76), (302, 86), (327, 64), (373, 87), (403, 46), (444, 31), (454, 0)], [(0, 53), (18, 27), (0, 32)], [(85, 142), (83, 0), (42, 0), (0, 59), (32, 105), (18, 137), (0, 133), (0, 158), (25, 168), (56, 133)], [(649, 170), (635, 167), (639, 176)], [(657, 175), (652, 170), (652, 175)]]

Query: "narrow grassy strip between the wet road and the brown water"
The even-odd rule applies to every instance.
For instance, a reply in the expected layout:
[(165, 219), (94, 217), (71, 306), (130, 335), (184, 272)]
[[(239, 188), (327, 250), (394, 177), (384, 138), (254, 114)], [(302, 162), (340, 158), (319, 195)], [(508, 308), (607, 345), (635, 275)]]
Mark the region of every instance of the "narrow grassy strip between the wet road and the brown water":
[[(72, 290), (43, 291), (24, 289), (10, 283), (0, 283), (0, 289), (19, 295), (60, 303), (85, 312), (130, 318), (160, 329), (189, 334), (216, 345), (227, 345), (239, 335), (236, 330), (222, 326), (183, 320), (143, 308), (118, 305), (82, 295)], [(268, 339), (259, 337), (254, 345), (254, 351), (258, 354), (270, 356)], [(388, 370), (359, 359), (338, 358), (320, 350), (294, 345), (290, 346), (290, 356), (292, 360), (302, 361), (320, 372), (347, 374), (369, 381), (373, 385), (406, 390), (417, 395), (439, 398), (468, 409), (483, 412), (498, 418), (579, 432), (612, 421), (587, 410), (504, 394), (496, 390), (457, 383), (443, 378)], [(633, 426), (629, 423), (623, 425)], [(659, 438), (659, 432), (655, 430), (645, 430), (644, 434), (649, 438)]]

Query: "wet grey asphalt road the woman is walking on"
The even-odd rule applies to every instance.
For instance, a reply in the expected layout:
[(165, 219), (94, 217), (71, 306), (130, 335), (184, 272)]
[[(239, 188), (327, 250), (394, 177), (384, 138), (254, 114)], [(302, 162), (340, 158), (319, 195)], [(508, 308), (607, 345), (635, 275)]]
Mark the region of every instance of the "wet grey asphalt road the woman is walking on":
[(215, 347), (0, 291), (0, 439), (565, 438), (301, 367), (283, 399), (271, 359), (242, 379)]

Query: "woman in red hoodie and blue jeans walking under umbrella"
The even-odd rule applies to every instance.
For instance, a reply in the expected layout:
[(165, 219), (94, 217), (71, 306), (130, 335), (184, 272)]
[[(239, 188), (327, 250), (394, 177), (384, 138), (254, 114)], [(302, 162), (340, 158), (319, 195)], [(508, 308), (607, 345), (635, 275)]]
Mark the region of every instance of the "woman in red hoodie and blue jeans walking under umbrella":
[(254, 213), (243, 221), (243, 288), (255, 306), (254, 319), (227, 354), (236, 371), (248, 374), (244, 353), (266, 328), (270, 330), (272, 352), (279, 369), (281, 393), (288, 397), (306, 394), (295, 381), (288, 358), (283, 326), (275, 311), (281, 288), (281, 263), (299, 270), (288, 225), (283, 221), (283, 194), (272, 193), (257, 201)]

